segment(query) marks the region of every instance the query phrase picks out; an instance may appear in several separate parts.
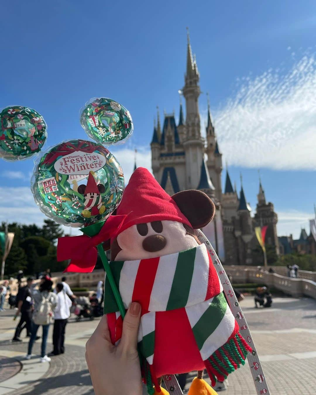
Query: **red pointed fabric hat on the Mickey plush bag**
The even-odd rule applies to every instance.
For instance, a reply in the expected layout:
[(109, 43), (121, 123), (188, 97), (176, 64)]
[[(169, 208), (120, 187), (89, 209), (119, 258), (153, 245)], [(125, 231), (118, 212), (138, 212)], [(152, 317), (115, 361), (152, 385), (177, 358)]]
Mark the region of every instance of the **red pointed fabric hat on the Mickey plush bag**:
[(176, 202), (144, 167), (137, 167), (132, 174), (117, 208), (117, 215), (126, 215), (117, 234), (132, 225), (154, 221), (176, 221), (191, 226)]

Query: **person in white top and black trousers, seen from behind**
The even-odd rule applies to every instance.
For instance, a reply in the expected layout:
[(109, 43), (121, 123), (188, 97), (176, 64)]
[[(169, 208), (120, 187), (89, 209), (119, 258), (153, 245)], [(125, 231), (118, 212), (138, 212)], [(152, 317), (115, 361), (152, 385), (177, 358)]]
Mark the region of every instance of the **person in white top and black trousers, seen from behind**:
[(63, 292), (62, 282), (56, 285), (57, 307), (55, 309), (55, 323), (53, 331), (53, 351), (49, 355), (59, 355), (65, 352), (65, 329), (70, 317), (70, 306), (72, 304), (66, 292)]

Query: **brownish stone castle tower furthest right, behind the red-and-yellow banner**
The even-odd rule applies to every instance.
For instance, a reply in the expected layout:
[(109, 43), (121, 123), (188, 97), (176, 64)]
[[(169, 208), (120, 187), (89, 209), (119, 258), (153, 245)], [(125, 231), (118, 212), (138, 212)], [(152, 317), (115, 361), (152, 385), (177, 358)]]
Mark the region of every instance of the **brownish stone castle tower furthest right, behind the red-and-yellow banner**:
[(254, 215), (255, 226), (267, 225), (267, 233), (265, 235), (265, 244), (273, 246), (277, 255), (280, 254), (278, 236), (276, 234), (276, 224), (278, 222), (278, 215), (274, 211), (274, 206), (271, 202), (266, 203), (265, 193), (259, 178), (259, 193), (257, 195), (258, 203), (256, 213)]

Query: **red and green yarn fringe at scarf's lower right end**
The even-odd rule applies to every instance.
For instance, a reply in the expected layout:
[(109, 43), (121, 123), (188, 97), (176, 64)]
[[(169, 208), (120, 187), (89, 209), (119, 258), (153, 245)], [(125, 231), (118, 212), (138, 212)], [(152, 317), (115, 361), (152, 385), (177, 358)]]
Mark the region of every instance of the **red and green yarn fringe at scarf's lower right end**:
[(249, 352), (252, 352), (252, 348), (248, 346), (246, 340), (239, 332), (218, 350), (214, 351), (204, 361), (212, 386), (216, 384), (216, 380), (224, 381), (229, 373), (238, 369), (240, 365), (245, 365)]

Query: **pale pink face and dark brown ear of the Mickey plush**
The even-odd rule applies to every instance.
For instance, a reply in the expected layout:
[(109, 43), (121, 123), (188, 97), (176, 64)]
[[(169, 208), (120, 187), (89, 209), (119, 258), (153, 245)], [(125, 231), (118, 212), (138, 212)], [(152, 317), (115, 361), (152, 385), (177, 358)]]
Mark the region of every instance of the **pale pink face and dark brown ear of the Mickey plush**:
[(214, 216), (214, 203), (201, 191), (183, 191), (172, 196), (192, 228), (175, 221), (136, 224), (111, 242), (111, 260), (155, 258), (194, 248), (200, 243), (194, 229), (203, 228)]

